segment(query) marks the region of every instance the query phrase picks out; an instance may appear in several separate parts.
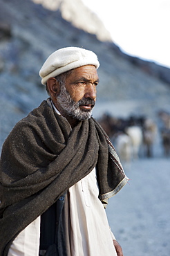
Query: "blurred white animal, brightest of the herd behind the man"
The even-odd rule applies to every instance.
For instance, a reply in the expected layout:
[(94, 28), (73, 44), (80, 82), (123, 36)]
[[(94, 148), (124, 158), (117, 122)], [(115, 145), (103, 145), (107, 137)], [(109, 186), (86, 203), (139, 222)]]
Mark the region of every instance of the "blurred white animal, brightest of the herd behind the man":
[(126, 134), (131, 138), (133, 158), (139, 158), (140, 147), (142, 145), (142, 128), (131, 126), (126, 128)]

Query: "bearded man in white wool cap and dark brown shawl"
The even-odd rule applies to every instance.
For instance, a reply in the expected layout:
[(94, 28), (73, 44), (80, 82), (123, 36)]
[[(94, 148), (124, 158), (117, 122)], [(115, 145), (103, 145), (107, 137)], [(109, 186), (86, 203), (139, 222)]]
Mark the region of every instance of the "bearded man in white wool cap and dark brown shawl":
[(1, 255), (122, 256), (104, 205), (128, 181), (91, 117), (95, 53), (68, 47), (39, 74), (50, 98), (15, 125), (1, 153)]

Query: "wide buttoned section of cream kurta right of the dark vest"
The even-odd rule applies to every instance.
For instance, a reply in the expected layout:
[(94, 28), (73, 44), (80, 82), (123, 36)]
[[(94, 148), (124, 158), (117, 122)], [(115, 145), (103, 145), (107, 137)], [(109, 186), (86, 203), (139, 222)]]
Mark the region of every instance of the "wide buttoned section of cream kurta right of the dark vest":
[(117, 255), (106, 211), (98, 199), (99, 190), (95, 169), (73, 185), (69, 192), (71, 255)]

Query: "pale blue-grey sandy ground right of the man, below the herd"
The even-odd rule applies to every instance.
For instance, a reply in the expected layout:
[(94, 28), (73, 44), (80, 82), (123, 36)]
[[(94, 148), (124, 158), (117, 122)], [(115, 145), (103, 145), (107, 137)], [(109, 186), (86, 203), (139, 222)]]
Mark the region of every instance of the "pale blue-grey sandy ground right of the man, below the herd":
[(133, 161), (129, 184), (109, 199), (108, 221), (124, 256), (170, 255), (170, 158)]

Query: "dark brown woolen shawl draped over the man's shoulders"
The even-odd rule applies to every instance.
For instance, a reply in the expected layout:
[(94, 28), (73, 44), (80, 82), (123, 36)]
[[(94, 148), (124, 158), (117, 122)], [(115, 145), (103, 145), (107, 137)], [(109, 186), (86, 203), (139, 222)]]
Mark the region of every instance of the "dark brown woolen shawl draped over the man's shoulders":
[(115, 149), (93, 118), (71, 130), (66, 118), (44, 101), (19, 121), (1, 153), (1, 255), (8, 255), (19, 232), (95, 166), (102, 201), (128, 181)]

